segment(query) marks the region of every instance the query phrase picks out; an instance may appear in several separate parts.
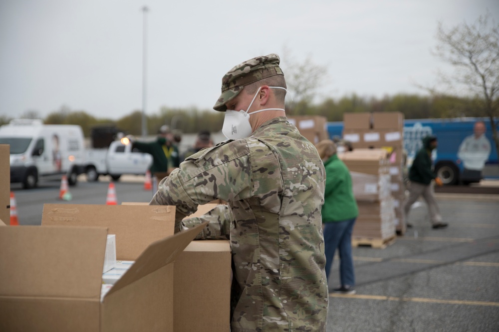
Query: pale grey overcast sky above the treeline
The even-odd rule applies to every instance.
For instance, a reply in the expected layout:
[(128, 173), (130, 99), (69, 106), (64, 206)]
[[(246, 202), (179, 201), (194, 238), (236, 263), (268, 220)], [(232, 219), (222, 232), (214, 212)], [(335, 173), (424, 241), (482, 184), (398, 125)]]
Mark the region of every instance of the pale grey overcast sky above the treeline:
[(286, 56), (325, 66), (323, 96), (424, 95), (449, 69), (438, 21), (499, 21), (498, 0), (0, 0), (0, 115), (141, 110), (143, 5), (149, 114), (211, 109), (228, 70), (268, 53), (284, 74)]

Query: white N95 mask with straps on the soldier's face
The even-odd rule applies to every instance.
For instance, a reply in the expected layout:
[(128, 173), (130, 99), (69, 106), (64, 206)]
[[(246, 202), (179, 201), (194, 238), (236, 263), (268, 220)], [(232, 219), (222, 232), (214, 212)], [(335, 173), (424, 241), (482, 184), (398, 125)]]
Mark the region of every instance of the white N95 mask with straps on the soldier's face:
[[(283, 89), (286, 90), (285, 88), (282, 87), (269, 87), (272, 89)], [(245, 137), (250, 137), (250, 135), (253, 132), (253, 129), (251, 129), (251, 124), (250, 124), (250, 107), (253, 105), (253, 102), (258, 95), (258, 92), (260, 92), (260, 88), (258, 88), (258, 91), (253, 96), (253, 99), (251, 100), (250, 106), (248, 106), (248, 109), (246, 111), (241, 110), (241, 111), (233, 111), (233, 110), (227, 110), (225, 111), (225, 117), (224, 117), (224, 125), (222, 126), (222, 133), (227, 137), (228, 139), (238, 139), (238, 138), (245, 138)], [(286, 90), (287, 91), (287, 90)], [(277, 111), (284, 111), (284, 109), (263, 109), (263, 110), (258, 110), (251, 112), (251, 114), (258, 113), (261, 111), (269, 111), (269, 110), (277, 110)]]

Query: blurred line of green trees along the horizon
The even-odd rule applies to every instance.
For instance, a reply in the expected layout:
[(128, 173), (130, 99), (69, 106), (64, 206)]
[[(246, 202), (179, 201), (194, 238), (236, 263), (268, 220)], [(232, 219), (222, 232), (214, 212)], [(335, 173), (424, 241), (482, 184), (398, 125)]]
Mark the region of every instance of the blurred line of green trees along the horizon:
[[(486, 116), (481, 109), (480, 100), (452, 96), (428, 97), (419, 95), (396, 95), (382, 99), (360, 97), (355, 94), (340, 99), (325, 99), (320, 104), (306, 101), (286, 105), (289, 115), (323, 115), (328, 121), (342, 121), (345, 112), (400, 111), (407, 119), (445, 118), (461, 116)], [(36, 112), (28, 112), (21, 117), (39, 117)], [(42, 118), (46, 124), (79, 124), (85, 136), (90, 136), (92, 127), (114, 125), (120, 130), (133, 135), (142, 133), (142, 112), (132, 111), (118, 120), (96, 118), (86, 111), (72, 111), (62, 107)], [(0, 125), (11, 118), (0, 116)], [(222, 129), (224, 113), (214, 110), (170, 109), (162, 107), (158, 113), (146, 115), (147, 132), (155, 134), (164, 124), (173, 130), (194, 133), (200, 130), (219, 131)]]

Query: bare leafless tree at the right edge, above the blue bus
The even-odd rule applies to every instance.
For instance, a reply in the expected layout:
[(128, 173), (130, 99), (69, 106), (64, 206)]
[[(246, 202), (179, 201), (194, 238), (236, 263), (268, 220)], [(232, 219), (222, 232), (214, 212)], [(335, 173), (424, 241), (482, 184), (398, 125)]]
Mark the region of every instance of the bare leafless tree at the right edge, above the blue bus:
[(466, 22), (450, 29), (438, 24), (438, 46), (435, 54), (451, 64), (454, 73), (442, 74), (453, 88), (466, 87), (474, 95), (480, 109), (489, 117), (492, 134), (499, 151), (499, 25), (490, 12), (474, 24)]

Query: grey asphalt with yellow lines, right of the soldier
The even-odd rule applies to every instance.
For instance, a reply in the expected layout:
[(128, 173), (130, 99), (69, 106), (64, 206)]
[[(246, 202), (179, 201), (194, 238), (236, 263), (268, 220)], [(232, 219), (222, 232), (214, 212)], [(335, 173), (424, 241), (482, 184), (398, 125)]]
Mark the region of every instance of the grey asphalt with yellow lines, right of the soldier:
[(357, 293), (330, 294), (327, 331), (499, 331), (499, 195), (437, 200), (448, 228), (431, 228), (423, 202), (391, 245), (353, 248)]

